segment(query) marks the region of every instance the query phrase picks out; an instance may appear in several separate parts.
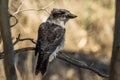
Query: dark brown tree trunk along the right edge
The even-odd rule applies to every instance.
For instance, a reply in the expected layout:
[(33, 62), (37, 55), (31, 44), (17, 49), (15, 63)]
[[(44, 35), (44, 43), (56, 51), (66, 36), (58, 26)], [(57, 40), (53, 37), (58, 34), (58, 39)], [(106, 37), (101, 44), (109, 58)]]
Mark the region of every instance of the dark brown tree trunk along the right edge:
[(116, 0), (115, 30), (109, 80), (120, 80), (120, 0)]

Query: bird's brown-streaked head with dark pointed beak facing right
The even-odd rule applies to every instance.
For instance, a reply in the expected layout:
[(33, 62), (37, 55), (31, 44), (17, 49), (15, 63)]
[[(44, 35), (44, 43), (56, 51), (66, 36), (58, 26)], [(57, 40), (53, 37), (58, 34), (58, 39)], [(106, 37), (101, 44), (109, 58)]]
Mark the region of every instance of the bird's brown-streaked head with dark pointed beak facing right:
[(56, 9), (54, 8), (50, 14), (48, 20), (52, 20), (55, 23), (66, 23), (69, 19), (76, 18), (77, 16), (72, 14), (66, 9)]

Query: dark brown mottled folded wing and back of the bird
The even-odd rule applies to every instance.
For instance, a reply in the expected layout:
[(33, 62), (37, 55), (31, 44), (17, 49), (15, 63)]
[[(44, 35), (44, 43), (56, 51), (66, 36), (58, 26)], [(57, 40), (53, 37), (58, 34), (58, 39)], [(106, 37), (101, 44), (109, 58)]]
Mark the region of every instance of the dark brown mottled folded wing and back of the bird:
[(38, 30), (36, 52), (52, 53), (64, 38), (65, 29), (53, 23), (43, 23)]

